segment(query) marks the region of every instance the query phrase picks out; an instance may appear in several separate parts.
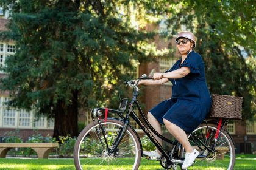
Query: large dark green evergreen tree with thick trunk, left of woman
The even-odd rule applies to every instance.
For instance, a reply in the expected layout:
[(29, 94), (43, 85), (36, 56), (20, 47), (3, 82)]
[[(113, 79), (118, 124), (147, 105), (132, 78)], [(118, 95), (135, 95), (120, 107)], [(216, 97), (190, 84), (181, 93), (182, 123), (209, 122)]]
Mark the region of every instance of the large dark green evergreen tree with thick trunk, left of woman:
[[(109, 103), (134, 62), (150, 60), (141, 44), (152, 36), (130, 26), (129, 1), (10, 1), (16, 54), (2, 68), (9, 106), (55, 118), (54, 137), (77, 136), (79, 108)], [(124, 4), (124, 5), (122, 5)], [(123, 7), (123, 13), (120, 9)], [(97, 101), (97, 102), (96, 102)]]

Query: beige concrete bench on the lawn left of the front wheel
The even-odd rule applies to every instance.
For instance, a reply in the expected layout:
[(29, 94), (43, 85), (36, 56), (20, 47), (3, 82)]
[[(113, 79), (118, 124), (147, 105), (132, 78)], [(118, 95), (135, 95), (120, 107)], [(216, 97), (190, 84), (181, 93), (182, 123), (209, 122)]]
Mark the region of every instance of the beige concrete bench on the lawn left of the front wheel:
[(58, 146), (58, 143), (0, 143), (0, 158), (5, 158), (12, 148), (32, 148), (38, 158), (48, 158), (49, 152)]

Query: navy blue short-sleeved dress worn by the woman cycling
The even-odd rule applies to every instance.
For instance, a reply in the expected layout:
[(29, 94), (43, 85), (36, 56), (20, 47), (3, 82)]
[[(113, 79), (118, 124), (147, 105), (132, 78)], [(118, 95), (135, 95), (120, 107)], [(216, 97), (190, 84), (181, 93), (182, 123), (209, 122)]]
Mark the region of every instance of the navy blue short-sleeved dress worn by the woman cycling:
[(165, 118), (190, 133), (205, 119), (212, 101), (205, 80), (205, 67), (201, 55), (191, 51), (182, 64), (180, 64), (181, 61), (182, 59), (178, 60), (166, 72), (185, 66), (190, 68), (190, 73), (182, 78), (169, 78), (173, 84), (172, 97), (162, 101), (149, 112), (160, 123), (163, 124), (163, 118)]

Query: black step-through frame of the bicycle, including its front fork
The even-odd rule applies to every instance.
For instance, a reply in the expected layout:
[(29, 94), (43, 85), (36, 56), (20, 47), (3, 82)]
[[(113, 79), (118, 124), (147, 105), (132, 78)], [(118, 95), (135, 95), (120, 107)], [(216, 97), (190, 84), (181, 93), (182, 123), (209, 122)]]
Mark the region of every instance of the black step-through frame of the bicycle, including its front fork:
[[(119, 115), (119, 117), (121, 117), (121, 121), (124, 122), (124, 127), (123, 128), (120, 128), (117, 135), (116, 135), (116, 138), (112, 144), (112, 147), (110, 149), (110, 147), (108, 146), (107, 144), (107, 140), (105, 138), (105, 135), (104, 135), (104, 140), (105, 140), (105, 143), (107, 144), (107, 149), (108, 149), (108, 152), (109, 153), (113, 153), (115, 151), (115, 149), (118, 147), (118, 144), (121, 142), (121, 140), (123, 139), (124, 137), (124, 133), (126, 132), (126, 129), (127, 129), (127, 126), (129, 125), (129, 118), (132, 117), (133, 120), (135, 120), (135, 122), (138, 124), (138, 126), (140, 126), (140, 128), (143, 130), (143, 132), (149, 137), (149, 139), (152, 141), (152, 143), (154, 143), (154, 145), (156, 146), (156, 148), (162, 153), (162, 156), (165, 157), (165, 158), (168, 158), (168, 160), (172, 160), (172, 156), (174, 154), (174, 151), (176, 151), (177, 147), (180, 148), (181, 144), (177, 141), (177, 139), (175, 141), (172, 141), (172, 140), (169, 140), (168, 138), (165, 138), (163, 137), (163, 135), (160, 135), (157, 131), (155, 131), (155, 129), (151, 126), (151, 124), (149, 124), (147, 118), (145, 117), (144, 113), (143, 113), (143, 110), (141, 109), (140, 107), (140, 104), (138, 103), (137, 101), (137, 97), (138, 97), (138, 87), (135, 86), (136, 88), (133, 87), (133, 97), (132, 97), (132, 100), (130, 101), (130, 104), (129, 104), (129, 107), (127, 109), (127, 112), (126, 112), (126, 115), (123, 116), (123, 112), (119, 111), (119, 110), (115, 110), (115, 109), (108, 109), (108, 112), (111, 112), (111, 113), (116, 113)], [(137, 107), (138, 109), (138, 112), (139, 114), (141, 115), (141, 117), (143, 118), (143, 121), (141, 121), (141, 119), (138, 117), (138, 115), (135, 113), (135, 111), (133, 110), (134, 107)], [(104, 131), (104, 127), (101, 125), (101, 115), (102, 114), (102, 111), (104, 111), (105, 108), (98, 108), (96, 110), (92, 110), (91, 112), (91, 115), (92, 115), (92, 118), (93, 118), (93, 121), (95, 121), (94, 119), (94, 116), (98, 115), (98, 122), (100, 124), (100, 128), (101, 128), (101, 131), (102, 132), (105, 132)], [(96, 114), (98, 112), (98, 114)], [(207, 124), (207, 121), (205, 120), (205, 123)], [(224, 123), (220, 123), (221, 124), (221, 129), (219, 129), (219, 132), (221, 133), (224, 125), (226, 124), (226, 120), (224, 121)], [(207, 125), (207, 128), (208, 128), (208, 125)], [(150, 131), (149, 131), (150, 129)], [(97, 130), (98, 131), (98, 130)], [(171, 154), (169, 155), (168, 152), (165, 151), (165, 149), (161, 146), (160, 143), (158, 143), (158, 141), (156, 140), (156, 138), (152, 135), (151, 131), (157, 135), (157, 137), (161, 138), (162, 140), (166, 141), (167, 143), (169, 144), (172, 144), (174, 147), (172, 148), (172, 151), (171, 151)], [(196, 138), (199, 143), (202, 144), (202, 146), (204, 146), (205, 149), (207, 149), (209, 152), (213, 152), (214, 149), (215, 149), (215, 146), (216, 146), (216, 142), (218, 141), (218, 138), (219, 138), (219, 134), (218, 134), (218, 137), (215, 138), (215, 142), (212, 144), (211, 147), (208, 147), (204, 144), (204, 142), (202, 142), (198, 137), (196, 137), (193, 133), (191, 134), (194, 138)], [(216, 134), (210, 134), (210, 140), (212, 139), (213, 135), (216, 135)], [(102, 141), (101, 141), (102, 142)], [(203, 148), (201, 148), (201, 146), (198, 146), (199, 149), (201, 149), (201, 151), (204, 151)], [(207, 155), (199, 155), (198, 158), (204, 158), (204, 157), (207, 157)]]

